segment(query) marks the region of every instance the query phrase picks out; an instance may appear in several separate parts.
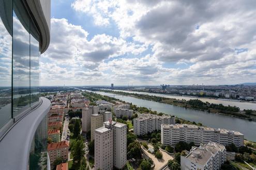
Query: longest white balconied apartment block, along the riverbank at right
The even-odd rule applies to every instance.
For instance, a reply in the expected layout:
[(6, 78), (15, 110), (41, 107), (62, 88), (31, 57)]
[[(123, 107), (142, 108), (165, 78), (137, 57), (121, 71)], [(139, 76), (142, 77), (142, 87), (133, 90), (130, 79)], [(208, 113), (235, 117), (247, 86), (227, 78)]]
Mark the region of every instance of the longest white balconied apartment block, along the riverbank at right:
[(164, 124), (161, 126), (161, 143), (163, 145), (175, 146), (179, 141), (194, 142), (198, 146), (208, 142), (215, 142), (224, 146), (234, 143), (239, 147), (244, 146), (244, 134), (227, 129), (187, 124)]

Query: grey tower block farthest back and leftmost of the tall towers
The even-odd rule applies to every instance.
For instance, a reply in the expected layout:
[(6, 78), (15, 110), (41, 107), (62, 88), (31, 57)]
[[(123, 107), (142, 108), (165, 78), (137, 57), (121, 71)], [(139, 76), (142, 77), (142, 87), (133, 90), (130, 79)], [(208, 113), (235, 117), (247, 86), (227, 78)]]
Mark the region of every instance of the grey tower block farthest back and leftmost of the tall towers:
[(82, 109), (82, 131), (88, 132), (91, 130), (91, 115), (97, 114), (99, 111), (98, 107), (89, 106), (88, 108)]

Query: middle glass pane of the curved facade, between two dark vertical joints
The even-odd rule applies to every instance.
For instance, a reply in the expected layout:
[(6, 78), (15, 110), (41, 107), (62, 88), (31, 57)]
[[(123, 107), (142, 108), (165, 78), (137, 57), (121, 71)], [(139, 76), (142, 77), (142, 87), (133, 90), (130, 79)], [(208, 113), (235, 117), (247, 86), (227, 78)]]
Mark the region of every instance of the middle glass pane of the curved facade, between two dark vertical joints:
[(29, 17), (13, 1), (13, 116), (30, 107)]

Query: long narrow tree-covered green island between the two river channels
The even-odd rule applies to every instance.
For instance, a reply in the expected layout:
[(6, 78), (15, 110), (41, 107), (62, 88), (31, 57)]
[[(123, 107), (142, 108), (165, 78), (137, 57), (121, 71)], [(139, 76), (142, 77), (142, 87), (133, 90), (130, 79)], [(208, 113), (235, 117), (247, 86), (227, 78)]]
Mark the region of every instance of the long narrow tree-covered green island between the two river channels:
[(208, 102), (203, 102), (199, 99), (176, 99), (176, 98), (167, 98), (167, 97), (159, 97), (154, 95), (147, 95), (147, 94), (137, 94), (137, 93), (127, 93), (127, 92), (119, 92), (119, 91), (112, 91), (112, 90), (102, 90), (102, 89), (89, 89), (92, 91), (100, 91), (100, 92), (107, 92), (113, 93), (117, 95), (124, 95), (124, 96), (131, 96), (135, 98), (145, 99), (145, 100), (152, 100), (159, 103), (190, 108), (195, 110), (207, 111), (209, 113), (217, 113), (217, 114), (225, 114), (230, 116), (235, 116), (239, 118), (244, 118), (249, 121), (256, 121), (256, 111), (255, 110), (243, 110), (241, 111), (236, 106), (224, 106), (222, 104), (210, 104)]

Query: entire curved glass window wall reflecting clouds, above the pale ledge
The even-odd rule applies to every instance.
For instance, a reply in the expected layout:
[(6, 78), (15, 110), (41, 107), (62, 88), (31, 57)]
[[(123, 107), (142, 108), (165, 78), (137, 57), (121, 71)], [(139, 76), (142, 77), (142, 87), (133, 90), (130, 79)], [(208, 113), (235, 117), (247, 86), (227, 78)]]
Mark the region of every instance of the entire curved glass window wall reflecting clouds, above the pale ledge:
[(0, 129), (39, 104), (39, 32), (22, 1), (0, 0)]

